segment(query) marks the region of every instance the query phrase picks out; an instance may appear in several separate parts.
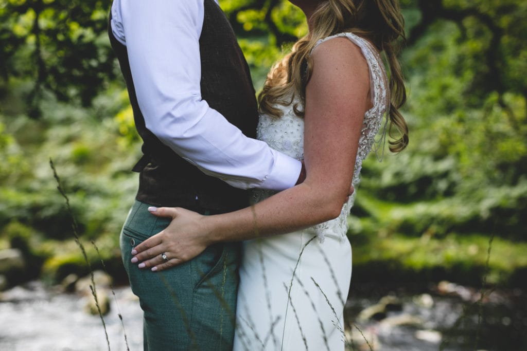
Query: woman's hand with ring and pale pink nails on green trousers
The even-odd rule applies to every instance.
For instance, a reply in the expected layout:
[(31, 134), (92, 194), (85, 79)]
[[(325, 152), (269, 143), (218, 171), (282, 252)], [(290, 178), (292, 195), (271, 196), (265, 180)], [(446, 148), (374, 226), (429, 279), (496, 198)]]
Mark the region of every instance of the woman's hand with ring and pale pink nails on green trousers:
[(202, 216), (180, 207), (149, 207), (154, 216), (171, 217), (170, 225), (132, 250), (132, 263), (160, 271), (198, 256), (212, 244)]

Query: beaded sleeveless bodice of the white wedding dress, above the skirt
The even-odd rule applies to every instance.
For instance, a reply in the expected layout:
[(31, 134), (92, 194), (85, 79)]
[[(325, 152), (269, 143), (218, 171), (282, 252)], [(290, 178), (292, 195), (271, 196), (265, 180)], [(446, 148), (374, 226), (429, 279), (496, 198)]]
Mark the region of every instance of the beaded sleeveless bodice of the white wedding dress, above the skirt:
[[(349, 38), (361, 49), (366, 58), (370, 72), (370, 91), (372, 92), (373, 107), (364, 114), (352, 180), (352, 184), (355, 188), (354, 194), (350, 196), (348, 202), (344, 204), (341, 213), (337, 218), (305, 229), (318, 235), (321, 241), (324, 240), (326, 234), (339, 235), (341, 237), (345, 237), (346, 235), (347, 216), (355, 200), (360, 169), (362, 168), (363, 160), (372, 149), (375, 142), (375, 136), (379, 131), (383, 121), (383, 116), (387, 111), (388, 106), (388, 91), (384, 64), (372, 44), (352, 33), (340, 33), (321, 39), (317, 45), (335, 37)], [(271, 148), (301, 160), (304, 159), (304, 118), (298, 117), (295, 114), (295, 104), (300, 104), (299, 99), (294, 98), (292, 103), (287, 106), (276, 105), (275, 107), (280, 108), (282, 111), (282, 116), (280, 118), (260, 115), (257, 128), (257, 138), (266, 142)], [(254, 197), (256, 202), (258, 202), (274, 193), (275, 192), (270, 190), (255, 190)]]

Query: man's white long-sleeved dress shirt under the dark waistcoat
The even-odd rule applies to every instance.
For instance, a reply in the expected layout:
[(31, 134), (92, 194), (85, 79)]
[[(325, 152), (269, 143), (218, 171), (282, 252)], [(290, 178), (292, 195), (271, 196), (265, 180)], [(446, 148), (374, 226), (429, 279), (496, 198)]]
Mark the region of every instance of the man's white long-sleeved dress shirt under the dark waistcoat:
[(201, 99), (203, 0), (114, 0), (111, 11), (145, 124), (162, 143), (237, 188), (295, 185), (299, 161), (246, 137)]

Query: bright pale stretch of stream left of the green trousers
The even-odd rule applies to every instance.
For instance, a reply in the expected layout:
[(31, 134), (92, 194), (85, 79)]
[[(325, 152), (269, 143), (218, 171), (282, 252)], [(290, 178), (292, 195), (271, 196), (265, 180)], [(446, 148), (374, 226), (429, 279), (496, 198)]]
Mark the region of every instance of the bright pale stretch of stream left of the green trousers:
[[(115, 289), (130, 350), (142, 350), (142, 310), (129, 287)], [(2, 293), (0, 350), (103, 351), (108, 350), (101, 318), (86, 313), (88, 297), (57, 294), (40, 282), (17, 286)], [(92, 298), (92, 297), (90, 297)], [(124, 351), (123, 327), (115, 301), (104, 316), (112, 351)]]

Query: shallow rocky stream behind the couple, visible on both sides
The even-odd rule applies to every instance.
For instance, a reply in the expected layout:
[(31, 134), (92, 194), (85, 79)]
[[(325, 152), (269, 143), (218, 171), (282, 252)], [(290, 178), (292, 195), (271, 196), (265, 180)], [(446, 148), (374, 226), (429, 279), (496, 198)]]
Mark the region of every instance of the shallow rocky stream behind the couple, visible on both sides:
[[(463, 292), (463, 287), (458, 287), (457, 294), (397, 296), (398, 306), (367, 320), (360, 320), (360, 313), (377, 304), (379, 299), (353, 297), (346, 306), (347, 320), (353, 330), (349, 333), (348, 328), (347, 334), (353, 336), (353, 350), (369, 349), (354, 325), (376, 351), (473, 350), (479, 309), (468, 307), (471, 296), (463, 296)], [(116, 288), (115, 296), (119, 308), (111, 296), (111, 310), (104, 317), (111, 350), (126, 350), (119, 312), (130, 350), (142, 350), (139, 301), (129, 287)], [(108, 350), (101, 319), (83, 310), (87, 298), (57, 293), (40, 282), (3, 292), (0, 295), (0, 350)], [(485, 299), (483, 313), (479, 349), (527, 350), (527, 298), (523, 292), (493, 292)], [(464, 317), (460, 319), (461, 315)]]

